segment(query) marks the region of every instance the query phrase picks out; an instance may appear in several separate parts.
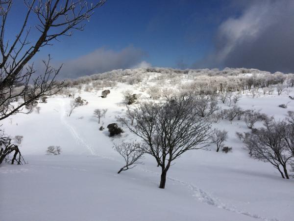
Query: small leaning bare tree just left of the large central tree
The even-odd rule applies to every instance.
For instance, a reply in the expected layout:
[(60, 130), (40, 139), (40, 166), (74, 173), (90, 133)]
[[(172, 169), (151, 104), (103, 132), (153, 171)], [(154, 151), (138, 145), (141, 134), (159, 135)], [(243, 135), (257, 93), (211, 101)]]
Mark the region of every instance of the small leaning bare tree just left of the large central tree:
[(123, 157), (125, 161), (125, 166), (123, 166), (118, 173), (123, 170), (131, 169), (138, 164), (143, 159), (142, 148), (139, 143), (136, 142), (122, 142), (121, 144), (115, 144), (114, 149)]

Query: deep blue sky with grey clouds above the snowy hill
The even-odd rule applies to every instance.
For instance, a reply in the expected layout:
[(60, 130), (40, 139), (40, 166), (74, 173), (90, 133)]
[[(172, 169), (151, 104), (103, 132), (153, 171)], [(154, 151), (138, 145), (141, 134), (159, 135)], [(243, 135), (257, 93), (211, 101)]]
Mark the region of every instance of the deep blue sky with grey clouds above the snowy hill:
[[(9, 20), (10, 36), (25, 12), (23, 3), (15, 2), (13, 10), (19, 16)], [(290, 72), (294, 71), (290, 63), (294, 50), (289, 50), (294, 47), (293, 2), (107, 0), (84, 31), (61, 37), (61, 42), (43, 48), (35, 59), (51, 54), (55, 64), (65, 64), (65, 77), (147, 64)], [(275, 30), (279, 35), (269, 37)], [(38, 36), (35, 31), (31, 34), (31, 38)]]

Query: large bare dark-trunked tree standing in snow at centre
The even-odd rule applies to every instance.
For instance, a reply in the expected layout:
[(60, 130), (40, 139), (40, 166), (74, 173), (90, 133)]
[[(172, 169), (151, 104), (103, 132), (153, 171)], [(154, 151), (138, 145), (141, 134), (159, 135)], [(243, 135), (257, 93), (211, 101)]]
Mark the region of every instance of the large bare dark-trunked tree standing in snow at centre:
[(142, 151), (153, 156), (161, 167), (159, 188), (164, 189), (172, 162), (183, 153), (208, 145), (210, 124), (194, 111), (191, 97), (166, 103), (144, 103), (134, 109), (135, 123), (122, 118), (129, 130), (142, 138)]

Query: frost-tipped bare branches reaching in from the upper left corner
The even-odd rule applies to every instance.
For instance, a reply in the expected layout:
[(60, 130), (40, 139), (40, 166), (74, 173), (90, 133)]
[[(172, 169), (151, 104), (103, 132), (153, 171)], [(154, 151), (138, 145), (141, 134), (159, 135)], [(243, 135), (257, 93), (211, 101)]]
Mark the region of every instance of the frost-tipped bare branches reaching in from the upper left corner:
[[(72, 30), (83, 30), (84, 21), (89, 20), (95, 8), (101, 7), (106, 0), (97, 0), (88, 5), (84, 0), (27, 0), (27, 11), (20, 30), (14, 39), (5, 39), (7, 20), (13, 15), (13, 0), (0, 0), (0, 120), (23, 112), (23, 107), (41, 96), (57, 93), (63, 82), (57, 82), (56, 76), (61, 66), (50, 66), (51, 57), (43, 60), (45, 71), (36, 76), (36, 70), (29, 61), (44, 46), (52, 45), (60, 36), (71, 36)], [(35, 17), (35, 18), (34, 18)], [(31, 37), (35, 27), (39, 34)], [(18, 97), (23, 100), (18, 105), (11, 103)], [(24, 111), (27, 113), (27, 111)]]

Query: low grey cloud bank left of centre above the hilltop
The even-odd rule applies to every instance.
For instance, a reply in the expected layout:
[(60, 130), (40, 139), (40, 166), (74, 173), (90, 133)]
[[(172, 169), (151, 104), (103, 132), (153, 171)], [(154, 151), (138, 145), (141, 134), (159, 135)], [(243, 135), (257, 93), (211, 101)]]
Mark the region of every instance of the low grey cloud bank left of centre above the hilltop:
[(145, 56), (146, 53), (132, 46), (121, 51), (100, 48), (90, 54), (63, 61), (60, 78), (77, 78), (114, 69), (150, 66), (146, 61), (143, 61)]

